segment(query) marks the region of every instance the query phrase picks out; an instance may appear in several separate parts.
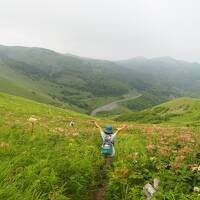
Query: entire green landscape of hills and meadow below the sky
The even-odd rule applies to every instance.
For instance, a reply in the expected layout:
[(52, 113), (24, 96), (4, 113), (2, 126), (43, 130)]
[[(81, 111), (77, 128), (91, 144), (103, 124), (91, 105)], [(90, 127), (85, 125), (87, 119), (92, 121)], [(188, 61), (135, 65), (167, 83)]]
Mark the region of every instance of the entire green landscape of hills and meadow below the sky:
[[(198, 200), (199, 66), (0, 46), (0, 199)], [(106, 168), (94, 121), (127, 126)]]

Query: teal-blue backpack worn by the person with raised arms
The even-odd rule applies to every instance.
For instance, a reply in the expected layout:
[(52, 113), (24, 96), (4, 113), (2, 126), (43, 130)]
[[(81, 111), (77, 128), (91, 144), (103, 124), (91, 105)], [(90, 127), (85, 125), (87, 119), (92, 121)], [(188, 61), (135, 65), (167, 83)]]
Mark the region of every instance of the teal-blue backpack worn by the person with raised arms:
[(111, 137), (105, 134), (103, 145), (101, 146), (101, 154), (104, 156), (110, 156), (113, 154), (113, 143)]

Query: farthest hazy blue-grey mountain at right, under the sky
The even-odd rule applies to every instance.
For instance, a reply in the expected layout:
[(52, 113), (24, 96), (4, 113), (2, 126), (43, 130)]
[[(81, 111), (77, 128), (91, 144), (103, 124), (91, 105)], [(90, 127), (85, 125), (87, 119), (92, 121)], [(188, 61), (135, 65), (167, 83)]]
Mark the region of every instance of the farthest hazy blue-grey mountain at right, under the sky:
[(159, 84), (182, 90), (185, 94), (200, 95), (200, 64), (171, 57), (133, 58), (117, 62), (121, 66), (146, 74)]

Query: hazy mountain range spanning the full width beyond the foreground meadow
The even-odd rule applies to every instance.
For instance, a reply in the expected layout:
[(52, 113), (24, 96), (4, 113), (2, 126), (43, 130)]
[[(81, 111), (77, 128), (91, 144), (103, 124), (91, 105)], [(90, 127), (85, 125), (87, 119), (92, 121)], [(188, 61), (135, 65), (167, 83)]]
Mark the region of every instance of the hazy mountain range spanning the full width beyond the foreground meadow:
[(89, 113), (129, 93), (142, 110), (179, 96), (200, 95), (200, 64), (172, 58), (108, 61), (37, 47), (0, 45), (0, 91)]

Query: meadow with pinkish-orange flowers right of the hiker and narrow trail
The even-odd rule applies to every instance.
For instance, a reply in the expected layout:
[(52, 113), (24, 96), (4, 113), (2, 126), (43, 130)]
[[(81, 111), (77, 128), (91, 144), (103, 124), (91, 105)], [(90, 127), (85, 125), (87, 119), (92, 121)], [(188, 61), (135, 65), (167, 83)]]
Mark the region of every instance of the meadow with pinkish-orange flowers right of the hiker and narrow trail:
[(199, 138), (189, 129), (142, 128), (116, 145), (106, 199), (146, 199), (143, 187), (154, 178), (161, 183), (156, 199), (199, 199)]

